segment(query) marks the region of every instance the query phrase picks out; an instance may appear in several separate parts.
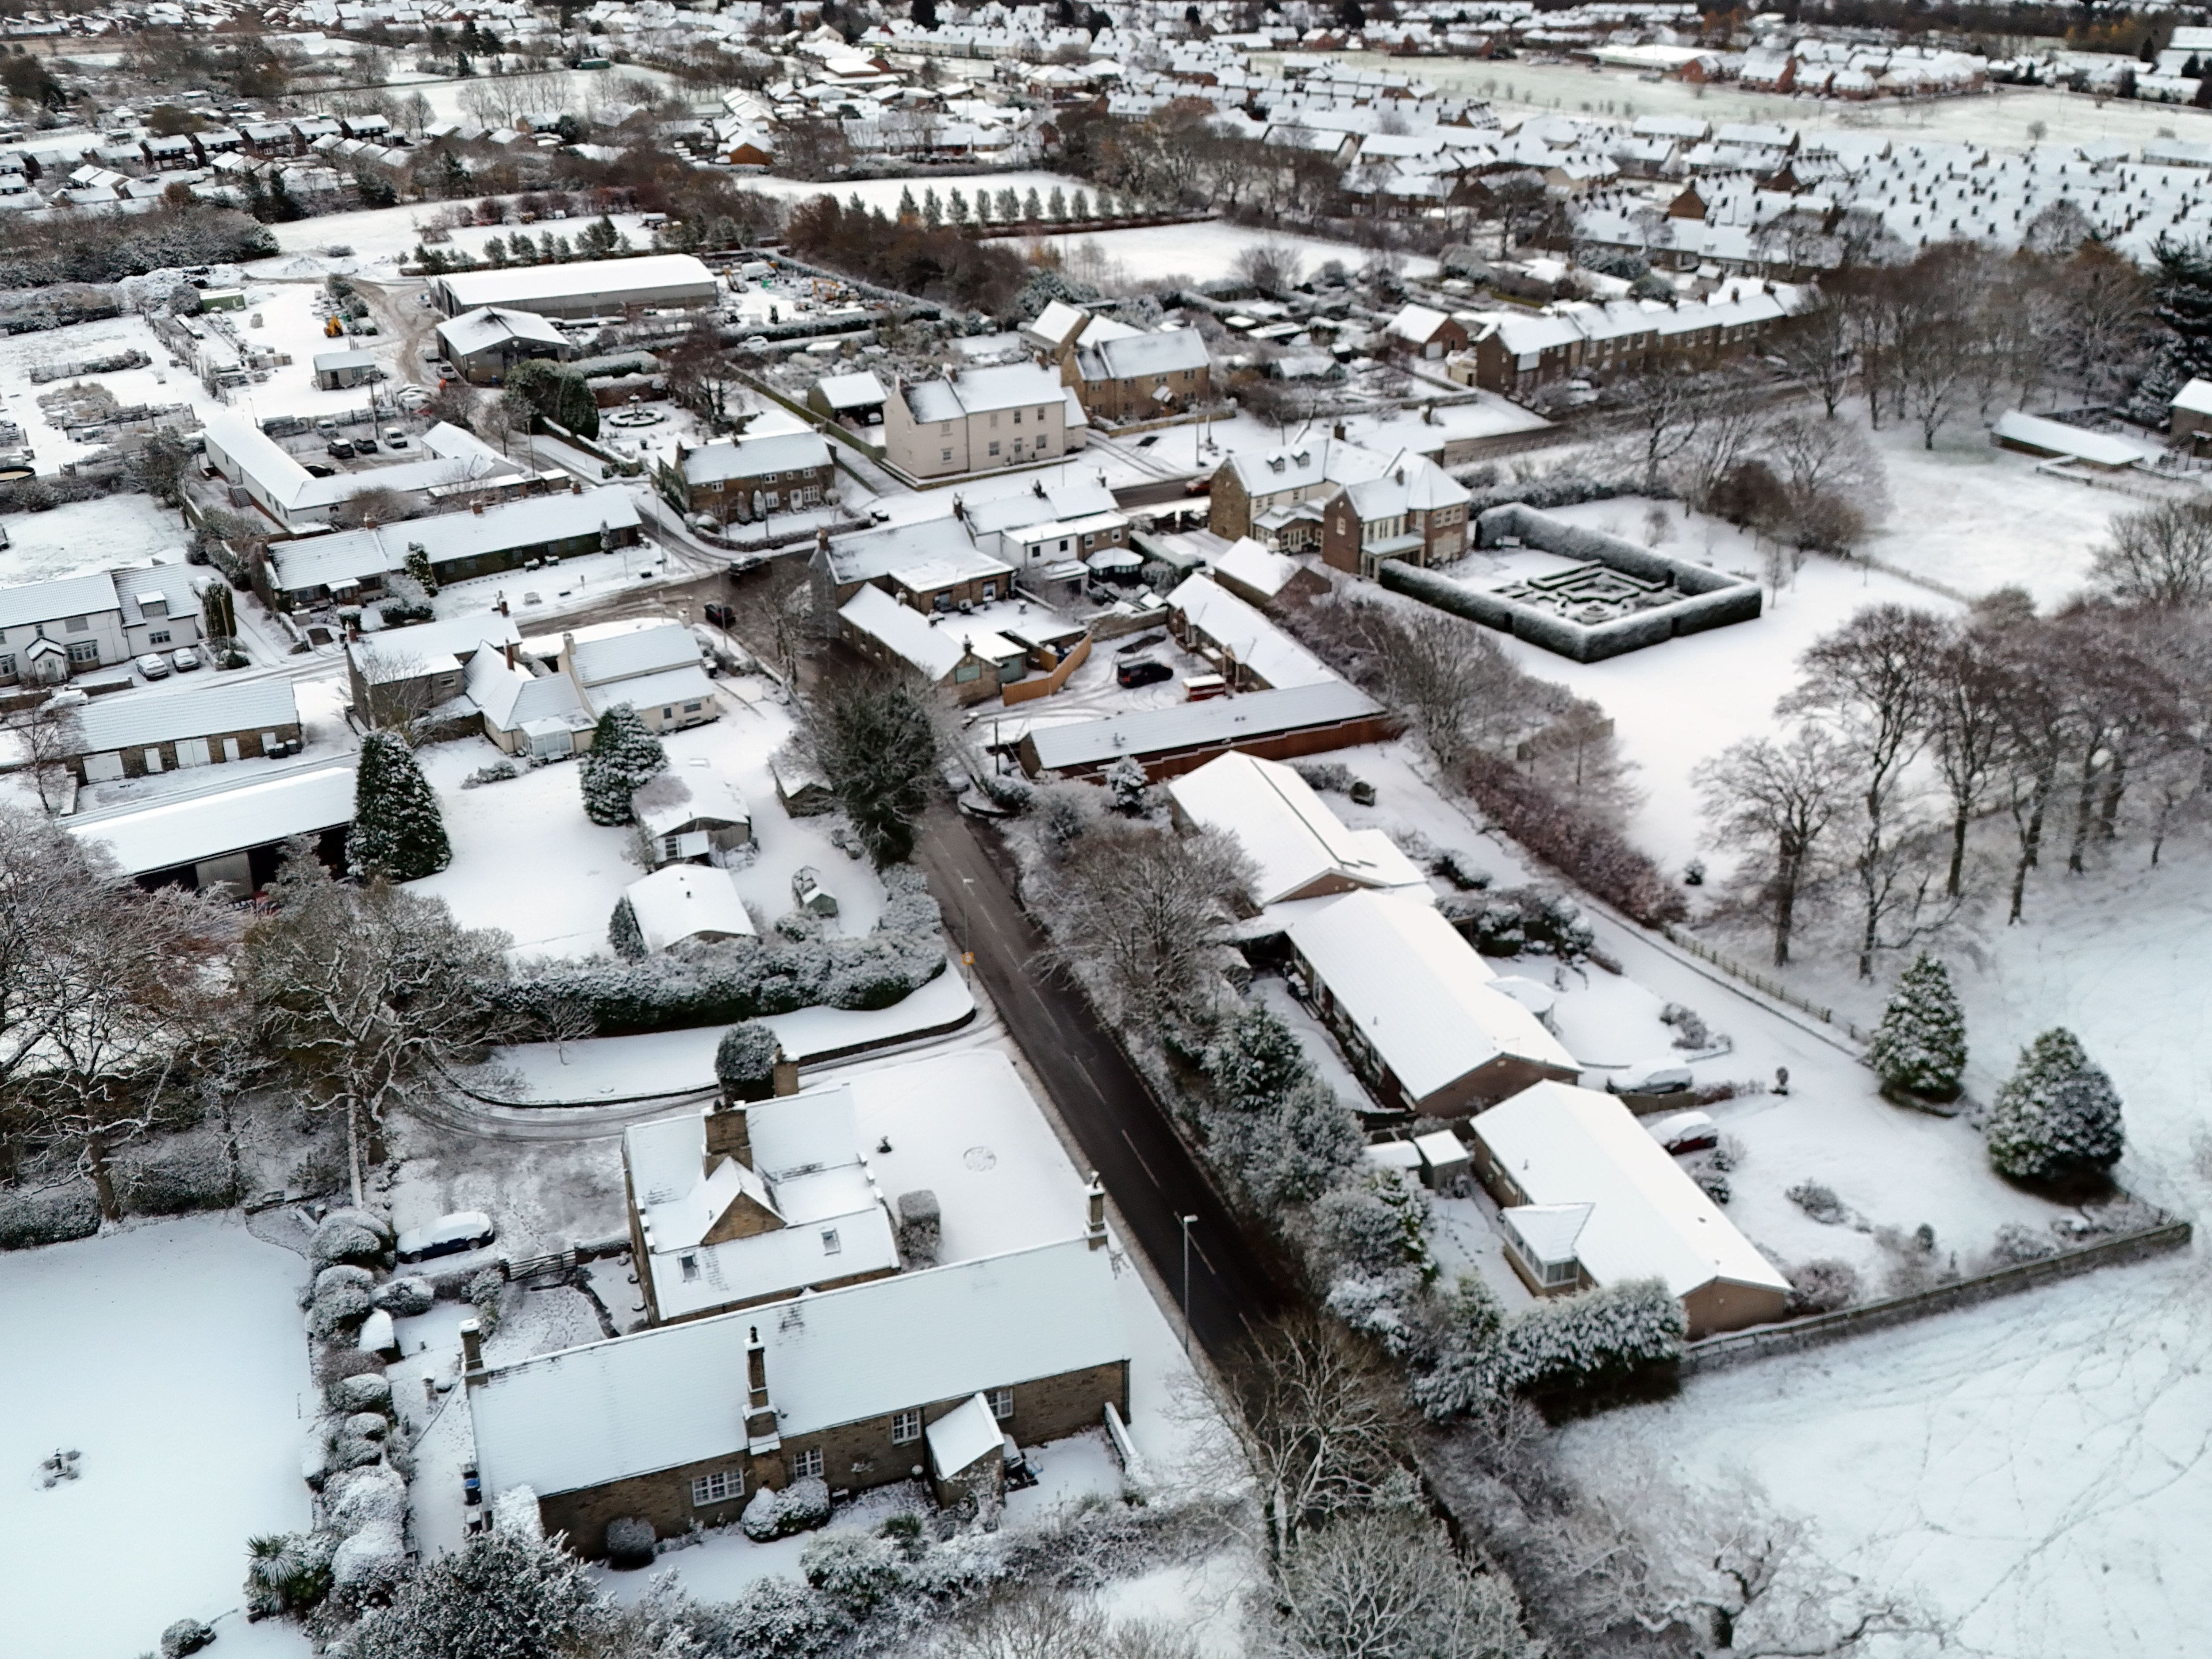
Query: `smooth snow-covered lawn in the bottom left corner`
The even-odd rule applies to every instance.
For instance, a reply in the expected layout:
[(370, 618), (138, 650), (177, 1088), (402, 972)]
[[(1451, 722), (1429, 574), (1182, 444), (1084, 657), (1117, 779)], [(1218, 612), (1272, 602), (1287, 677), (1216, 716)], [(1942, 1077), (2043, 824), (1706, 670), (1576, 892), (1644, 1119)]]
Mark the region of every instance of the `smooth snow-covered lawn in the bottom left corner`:
[[(0, 1267), (0, 1555), (9, 1659), (128, 1659), (241, 1604), (246, 1540), (307, 1526), (305, 1263), (237, 1214), (22, 1250)], [(82, 1453), (51, 1491), (38, 1462)], [(223, 1652), (305, 1655), (221, 1619)], [(259, 1639), (257, 1639), (259, 1637)]]

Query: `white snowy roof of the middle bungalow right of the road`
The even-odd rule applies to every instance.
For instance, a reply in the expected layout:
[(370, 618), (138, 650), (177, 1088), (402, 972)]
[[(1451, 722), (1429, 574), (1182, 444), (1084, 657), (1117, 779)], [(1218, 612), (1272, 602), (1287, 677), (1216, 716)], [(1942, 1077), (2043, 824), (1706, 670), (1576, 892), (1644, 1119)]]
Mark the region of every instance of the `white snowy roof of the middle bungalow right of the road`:
[(1292, 922), (1290, 942), (1413, 1099), (1502, 1055), (1579, 1071), (1533, 1013), (1491, 989), (1489, 964), (1433, 905), (1347, 894)]

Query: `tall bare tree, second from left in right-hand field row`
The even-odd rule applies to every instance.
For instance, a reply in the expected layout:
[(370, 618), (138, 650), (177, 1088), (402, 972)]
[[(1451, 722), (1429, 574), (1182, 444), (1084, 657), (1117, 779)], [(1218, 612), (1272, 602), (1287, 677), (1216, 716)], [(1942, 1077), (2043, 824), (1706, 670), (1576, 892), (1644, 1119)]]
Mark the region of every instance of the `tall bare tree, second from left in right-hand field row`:
[(1944, 624), (1927, 611), (1878, 604), (1860, 611), (1803, 657), (1805, 679), (1776, 712), (1816, 714), (1845, 734), (1858, 765), (1858, 849), (1851, 867), (1860, 889), (1858, 978), (1874, 978), (1882, 922), (1896, 909), (1900, 883), (1893, 821), (1907, 768), (1931, 730), (1933, 664)]

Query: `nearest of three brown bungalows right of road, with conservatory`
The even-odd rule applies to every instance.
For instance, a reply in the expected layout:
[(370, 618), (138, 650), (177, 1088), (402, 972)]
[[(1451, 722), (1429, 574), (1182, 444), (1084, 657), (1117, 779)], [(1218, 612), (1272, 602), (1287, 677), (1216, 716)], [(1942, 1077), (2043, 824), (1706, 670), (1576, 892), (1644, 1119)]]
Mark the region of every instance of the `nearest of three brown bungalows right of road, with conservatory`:
[(1690, 1336), (1781, 1318), (1790, 1281), (1613, 1095), (1544, 1082), (1475, 1113), (1471, 1164), (1537, 1296), (1659, 1279)]

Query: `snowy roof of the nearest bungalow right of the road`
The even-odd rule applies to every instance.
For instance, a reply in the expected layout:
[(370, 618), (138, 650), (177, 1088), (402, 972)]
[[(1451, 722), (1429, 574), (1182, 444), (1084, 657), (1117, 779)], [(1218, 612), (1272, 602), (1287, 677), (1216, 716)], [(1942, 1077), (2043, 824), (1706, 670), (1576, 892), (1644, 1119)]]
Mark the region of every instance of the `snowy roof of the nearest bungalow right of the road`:
[[(1661, 1279), (1688, 1296), (1725, 1279), (1790, 1290), (1613, 1095), (1546, 1082), (1478, 1113), (1469, 1128), (1528, 1203), (1590, 1206), (1573, 1252), (1599, 1285)], [(1520, 1212), (1513, 1214), (1520, 1225)], [(1531, 1217), (1531, 1225), (1542, 1223)]]

